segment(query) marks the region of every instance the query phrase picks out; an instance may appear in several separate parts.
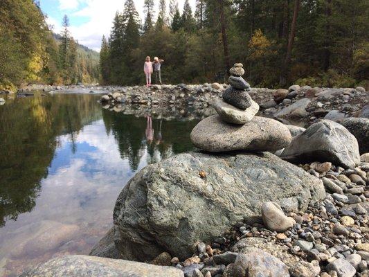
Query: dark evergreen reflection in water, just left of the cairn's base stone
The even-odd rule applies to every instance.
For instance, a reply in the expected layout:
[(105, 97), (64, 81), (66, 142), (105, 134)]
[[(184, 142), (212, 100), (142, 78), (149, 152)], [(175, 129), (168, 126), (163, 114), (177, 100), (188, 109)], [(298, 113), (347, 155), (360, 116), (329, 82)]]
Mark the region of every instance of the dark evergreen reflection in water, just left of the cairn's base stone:
[[(198, 121), (160, 121), (152, 119), (154, 141), (147, 143), (145, 139), (146, 118), (136, 118), (114, 111), (103, 110), (102, 118), (105, 122), (107, 134), (112, 132), (118, 143), (120, 156), (128, 159), (131, 169), (137, 170), (138, 165), (147, 152), (147, 163), (156, 163), (193, 149), (190, 143), (190, 132)], [(159, 132), (161, 130), (161, 136)]]

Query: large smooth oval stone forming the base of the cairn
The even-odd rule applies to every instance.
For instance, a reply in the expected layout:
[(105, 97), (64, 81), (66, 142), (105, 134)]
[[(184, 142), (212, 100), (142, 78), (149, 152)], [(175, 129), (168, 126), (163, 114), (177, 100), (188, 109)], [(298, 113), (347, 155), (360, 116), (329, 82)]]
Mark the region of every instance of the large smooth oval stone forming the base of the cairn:
[(209, 152), (275, 152), (291, 142), (291, 134), (285, 125), (260, 116), (254, 116), (244, 125), (230, 125), (218, 115), (209, 116), (192, 129), (190, 137), (197, 148)]

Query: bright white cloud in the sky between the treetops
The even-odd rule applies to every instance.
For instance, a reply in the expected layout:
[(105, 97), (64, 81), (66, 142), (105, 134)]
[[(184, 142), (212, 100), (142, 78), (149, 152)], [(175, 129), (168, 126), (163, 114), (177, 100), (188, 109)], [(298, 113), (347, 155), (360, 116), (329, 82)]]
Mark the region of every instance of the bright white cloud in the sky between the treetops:
[[(84, 8), (75, 10), (70, 16), (86, 17), (89, 19), (86, 23), (79, 26), (73, 26), (71, 22), (71, 34), (80, 44), (83, 44), (93, 50), (100, 51), (102, 35), (109, 36), (112, 22), (116, 11), (123, 11), (124, 0), (59, 0), (60, 8), (78, 8), (78, 3), (84, 3)], [(136, 9), (143, 20), (143, 1), (134, 0)], [(179, 8), (182, 9), (184, 0), (179, 0)], [(159, 0), (155, 1), (154, 8), (156, 15), (158, 12)], [(195, 0), (190, 0), (193, 12), (195, 12)], [(169, 0), (167, 0), (167, 6)], [(167, 8), (168, 12), (168, 8)], [(55, 24), (55, 26), (57, 26)], [(56, 29), (56, 28), (55, 28)]]

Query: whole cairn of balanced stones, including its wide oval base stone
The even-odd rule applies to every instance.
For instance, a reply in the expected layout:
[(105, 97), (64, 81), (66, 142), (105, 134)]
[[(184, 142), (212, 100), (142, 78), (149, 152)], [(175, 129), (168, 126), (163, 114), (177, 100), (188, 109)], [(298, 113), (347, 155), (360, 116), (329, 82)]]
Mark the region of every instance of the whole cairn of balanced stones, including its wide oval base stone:
[(259, 105), (251, 99), (250, 85), (242, 78), (242, 64), (230, 69), (230, 86), (223, 99), (213, 102), (217, 115), (201, 120), (191, 132), (192, 143), (208, 152), (277, 151), (291, 143), (289, 129), (271, 118), (255, 116)]

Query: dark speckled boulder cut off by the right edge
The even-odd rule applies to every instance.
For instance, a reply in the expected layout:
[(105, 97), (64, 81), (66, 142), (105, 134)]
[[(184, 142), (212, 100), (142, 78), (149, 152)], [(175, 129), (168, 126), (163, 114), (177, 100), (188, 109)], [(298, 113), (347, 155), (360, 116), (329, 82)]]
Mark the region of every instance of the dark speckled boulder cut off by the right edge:
[(345, 118), (341, 124), (357, 139), (360, 153), (369, 152), (369, 119), (350, 117)]

